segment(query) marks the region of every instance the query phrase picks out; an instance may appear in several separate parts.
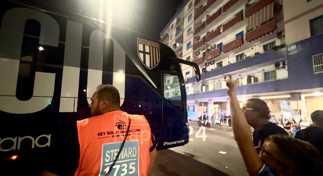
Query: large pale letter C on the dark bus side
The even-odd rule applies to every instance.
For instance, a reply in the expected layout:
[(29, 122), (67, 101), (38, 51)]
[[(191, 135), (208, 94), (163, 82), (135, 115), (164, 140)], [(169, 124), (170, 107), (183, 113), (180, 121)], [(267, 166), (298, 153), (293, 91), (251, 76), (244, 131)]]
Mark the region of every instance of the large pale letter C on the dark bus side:
[(59, 26), (49, 15), (28, 8), (15, 8), (4, 14), (0, 29), (0, 110), (7, 113), (41, 111), (54, 95), (55, 74), (36, 72), (33, 97), (28, 101), (16, 97), (24, 28), (29, 19), (41, 24), (40, 44), (58, 46)]

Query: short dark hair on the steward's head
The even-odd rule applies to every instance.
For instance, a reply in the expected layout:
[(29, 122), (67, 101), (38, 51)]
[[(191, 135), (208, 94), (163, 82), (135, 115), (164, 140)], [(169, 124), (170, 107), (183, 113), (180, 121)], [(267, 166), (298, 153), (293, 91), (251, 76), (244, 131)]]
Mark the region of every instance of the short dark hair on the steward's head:
[(96, 90), (98, 101), (106, 99), (107, 101), (120, 107), (120, 94), (115, 86), (111, 84), (100, 84), (96, 87)]

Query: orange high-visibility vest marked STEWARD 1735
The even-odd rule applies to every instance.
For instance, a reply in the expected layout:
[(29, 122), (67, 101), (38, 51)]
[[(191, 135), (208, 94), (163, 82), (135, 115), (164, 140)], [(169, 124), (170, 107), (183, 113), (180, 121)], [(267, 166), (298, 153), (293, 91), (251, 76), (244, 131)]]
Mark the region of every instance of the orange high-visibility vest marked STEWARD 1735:
[(110, 175), (147, 175), (153, 146), (150, 126), (144, 116), (123, 111), (77, 121), (80, 158), (74, 175), (105, 175), (124, 140), (129, 117), (129, 135)]

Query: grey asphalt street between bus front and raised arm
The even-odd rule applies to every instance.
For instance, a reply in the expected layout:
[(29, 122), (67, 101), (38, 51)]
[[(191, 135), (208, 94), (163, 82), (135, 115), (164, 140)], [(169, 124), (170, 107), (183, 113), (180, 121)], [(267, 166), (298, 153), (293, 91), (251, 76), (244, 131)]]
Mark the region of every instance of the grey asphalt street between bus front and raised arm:
[(230, 127), (215, 130), (190, 121), (190, 141), (159, 150), (152, 175), (247, 175)]

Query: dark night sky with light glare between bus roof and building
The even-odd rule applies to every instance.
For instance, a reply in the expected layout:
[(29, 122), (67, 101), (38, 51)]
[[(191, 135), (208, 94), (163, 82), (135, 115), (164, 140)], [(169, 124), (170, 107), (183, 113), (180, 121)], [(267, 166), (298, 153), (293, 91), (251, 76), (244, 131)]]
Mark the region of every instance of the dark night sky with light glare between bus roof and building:
[(159, 40), (160, 32), (174, 17), (176, 9), (184, 0), (32, 1), (109, 22)]

